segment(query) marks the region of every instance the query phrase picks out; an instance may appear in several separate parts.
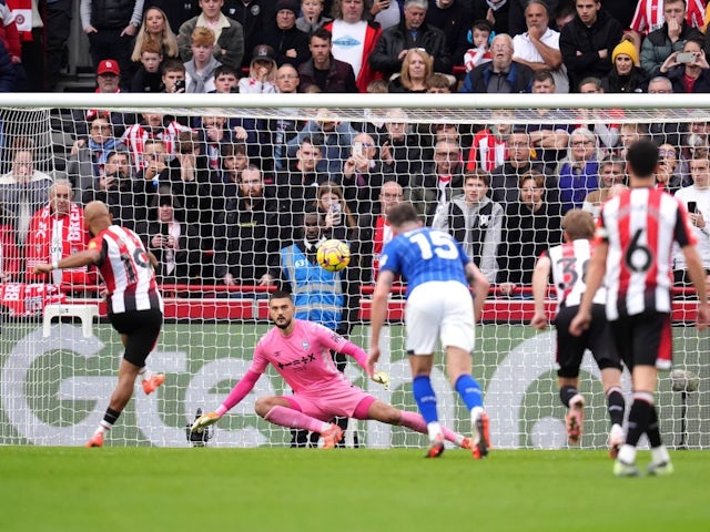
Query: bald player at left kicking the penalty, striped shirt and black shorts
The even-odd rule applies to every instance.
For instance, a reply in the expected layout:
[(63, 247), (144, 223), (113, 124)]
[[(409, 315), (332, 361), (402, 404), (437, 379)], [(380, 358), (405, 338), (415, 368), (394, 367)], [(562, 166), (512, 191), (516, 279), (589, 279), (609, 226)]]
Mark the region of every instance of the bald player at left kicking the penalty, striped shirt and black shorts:
[(149, 395), (163, 383), (165, 376), (151, 375), (145, 359), (155, 347), (163, 324), (163, 299), (155, 284), (155, 256), (146, 252), (139, 236), (113, 225), (105, 204), (91, 202), (84, 208), (84, 222), (93, 236), (85, 250), (52, 264), (38, 264), (37, 274), (53, 269), (97, 265), (106, 286), (109, 320), (121, 335), (125, 347), (116, 385), (109, 408), (87, 447), (101, 447), (104, 434), (133, 395), (133, 383), (141, 377)]

